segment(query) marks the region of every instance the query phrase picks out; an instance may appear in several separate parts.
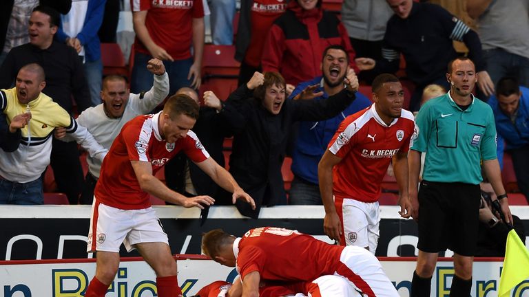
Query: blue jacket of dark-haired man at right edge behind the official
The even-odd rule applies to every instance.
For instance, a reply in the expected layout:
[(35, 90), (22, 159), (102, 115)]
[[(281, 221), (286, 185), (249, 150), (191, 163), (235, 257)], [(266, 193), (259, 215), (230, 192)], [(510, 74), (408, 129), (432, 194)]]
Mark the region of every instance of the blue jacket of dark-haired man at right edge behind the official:
[(492, 107), (496, 122), (496, 131), (504, 138), (506, 150), (520, 148), (529, 144), (529, 89), (520, 87), (521, 97), (516, 117), (516, 124), (510, 122), (510, 117), (503, 113), (498, 106), (496, 96), (490, 96), (488, 104)]

